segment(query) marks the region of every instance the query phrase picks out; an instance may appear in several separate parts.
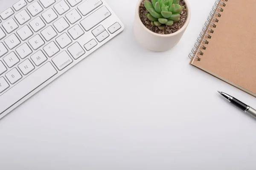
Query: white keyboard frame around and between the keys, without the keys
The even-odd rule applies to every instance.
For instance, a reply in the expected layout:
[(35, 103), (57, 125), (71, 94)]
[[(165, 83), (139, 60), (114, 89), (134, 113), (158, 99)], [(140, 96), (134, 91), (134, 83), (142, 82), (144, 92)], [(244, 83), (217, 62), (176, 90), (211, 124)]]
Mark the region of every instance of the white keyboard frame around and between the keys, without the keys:
[[(78, 5), (72, 7), (70, 6), (70, 4), (67, 2), (67, 0), (65, 0), (65, 2), (69, 5), (70, 9), (65, 12), (64, 14), (62, 15), (59, 15), (58, 12), (55, 10), (55, 8), (53, 7), (55, 4), (57, 4), (58, 2), (60, 2), (61, 0), (56, 0), (56, 2), (54, 4), (52, 4), (51, 6), (49, 6), (48, 8), (44, 8), (44, 6), (42, 5), (42, 3), (39, 1), (39, 0), (33, 0), (31, 3), (29, 3), (27, 0), (25, 0), (27, 5), (24, 6), (23, 8), (21, 8), (19, 11), (15, 11), (15, 9), (13, 8), (13, 6), (11, 6), (10, 8), (12, 8), (12, 10), (15, 12), (15, 14), (17, 14), (18, 12), (22, 11), (23, 9), (25, 9), (28, 13), (29, 11), (27, 10), (27, 6), (31, 5), (32, 3), (35, 3), (36, 1), (38, 1), (38, 3), (41, 5), (41, 7), (44, 9), (43, 11), (41, 11), (39, 14), (37, 14), (35, 17), (33, 17), (30, 13), (29, 13), (29, 16), (31, 17), (31, 19), (29, 21), (27, 21), (26, 23), (24, 23), (23, 25), (20, 25), (17, 20), (15, 19), (15, 14), (13, 14), (12, 16), (8, 17), (6, 20), (2, 20), (1, 19), (1, 23), (0, 23), (0, 27), (3, 29), (3, 31), (5, 32), (6, 34), (6, 37), (8, 37), (9, 35), (15, 33), (16, 36), (19, 38), (20, 40), (20, 44), (17, 45), (17, 47), (19, 47), (20, 45), (22, 45), (23, 43), (27, 43), (29, 45), (29, 47), (32, 49), (32, 54), (29, 54), (29, 56), (25, 57), (24, 59), (21, 59), (18, 55), (18, 58), (20, 59), (20, 62), (18, 62), (16, 65), (12, 66), (12, 68), (9, 68), (7, 67), (6, 63), (3, 61), (3, 57), (5, 57), (7, 54), (9, 54), (11, 51), (15, 51), (15, 49), (17, 47), (15, 47), (14, 49), (12, 50), (9, 50), (8, 48), (8, 53), (6, 53), (5, 55), (3, 55), (2, 57), (0, 57), (0, 60), (4, 63), (4, 65), (6, 66), (6, 68), (8, 69), (6, 72), (4, 72), (3, 74), (0, 75), (0, 77), (4, 77), (6, 79), (6, 76), (5, 74), (12, 70), (13, 68), (17, 68), (17, 70), (20, 72), (20, 74), (23, 76), (22, 79), (20, 79), (19, 81), (17, 81), (14, 85), (12, 85), (8, 79), (6, 79), (6, 81), (9, 83), (10, 87), (7, 88), (5, 91), (3, 91), (2, 93), (0, 93), (0, 97), (6, 93), (6, 91), (9, 91), (9, 90), (12, 90), (12, 88), (17, 85), (19, 82), (21, 82), (23, 79), (25, 79), (26, 77), (29, 77), (30, 74), (32, 74), (33, 72), (35, 72), (38, 68), (40, 68), (41, 66), (43, 66), (44, 64), (46, 64), (47, 62), (51, 62), (51, 64), (54, 66), (54, 68), (56, 69), (56, 71), (58, 71), (57, 74), (55, 74), (53, 77), (51, 77), (50, 79), (48, 79), (46, 82), (44, 82), (42, 85), (40, 85), (38, 88), (36, 88), (34, 91), (30, 92), (28, 95), (26, 95), (25, 97), (23, 97), (22, 99), (20, 99), (18, 102), (16, 102), (14, 105), (12, 105), (10, 108), (8, 108), (6, 111), (4, 111), (3, 113), (0, 113), (0, 119), (5, 116), (7, 113), (9, 113), (10, 111), (12, 111), (13, 109), (15, 109), (17, 106), (19, 106), (20, 104), (22, 104), (23, 102), (25, 102), (27, 99), (29, 99), (31, 96), (33, 96), (35, 93), (37, 93), (38, 91), (40, 91), (42, 88), (44, 88), (45, 86), (47, 86), (50, 82), (52, 82), (53, 80), (55, 80), (57, 77), (61, 76), (61, 74), (64, 74), (67, 70), (69, 70), (71, 67), (73, 67), (74, 65), (76, 65), (78, 62), (80, 62), (82, 59), (84, 59), (85, 57), (89, 56), (91, 53), (93, 53), (93, 51), (96, 51), (98, 48), (100, 48), (102, 45), (104, 45), (106, 42), (108, 42), (109, 40), (111, 40), (113, 37), (115, 37), (117, 34), (121, 33), (123, 30), (124, 30), (124, 25), (123, 23), (121, 22), (121, 20), (119, 20), (119, 18), (116, 16), (116, 14), (113, 12), (113, 10), (110, 8), (110, 6), (108, 6), (108, 4), (105, 2), (105, 0), (101, 0), (102, 1), (102, 5), (100, 5), (99, 7), (97, 7), (96, 9), (94, 9), (93, 11), (91, 11), (89, 14), (87, 14), (86, 16), (83, 16), (81, 14), (81, 12), (79, 10), (77, 10), (79, 12), (79, 14), (81, 15), (81, 19), (78, 20), (76, 23), (73, 23), (73, 24), (70, 24), (70, 22), (67, 20), (67, 18), (65, 17), (65, 14), (67, 14), (69, 11), (71, 11), (72, 9), (76, 8), (77, 9), (77, 6), (79, 6), (81, 3), (83, 3), (85, 0), (82, 0), (81, 3), (79, 3)], [(83, 20), (85, 17), (89, 16), (90, 14), (92, 14), (93, 12), (95, 12), (96, 10), (98, 10), (99, 8), (101, 8), (102, 6), (106, 6), (108, 8), (108, 10), (111, 12), (111, 16), (106, 18), (105, 20), (103, 20), (101, 23), (97, 24), (96, 26), (94, 26), (93, 28), (91, 28), (89, 31), (85, 31), (84, 28), (81, 26), (80, 22), (81, 20)], [(45, 11), (47, 11), (47, 9), (49, 8), (52, 8), (55, 13), (58, 15), (58, 18), (55, 19), (54, 21), (52, 21), (51, 23), (47, 24), (45, 22), (45, 20), (43, 19), (43, 17), (41, 16), (42, 13), (44, 13)], [(42, 28), (40, 31), (38, 32), (35, 32), (33, 31), (33, 29), (31, 28), (31, 26), (29, 25), (29, 22), (32, 21), (33, 19), (35, 19), (36, 17), (40, 16), (41, 19), (44, 21), (44, 23), (46, 24), (46, 26), (44, 28)], [(67, 23), (70, 25), (70, 27), (68, 27), (65, 31), (61, 32), (61, 33), (58, 33), (58, 31), (56, 30), (56, 28), (52, 25), (52, 23), (54, 23), (56, 20), (58, 20), (59, 18), (61, 17), (64, 17), (67, 21)], [(13, 31), (12, 33), (10, 34), (7, 34), (7, 32), (5, 31), (5, 29), (3, 28), (2, 24), (4, 22), (6, 22), (7, 20), (9, 20), (10, 18), (13, 18), (15, 20), (15, 22), (18, 24), (19, 28), (17, 28), (15, 31)], [(121, 26), (121, 28), (116, 31), (115, 33), (111, 34), (109, 31), (108, 31), (108, 28), (110, 26), (112, 26), (114, 23), (118, 22)], [(73, 38), (70, 36), (70, 34), (67, 32), (68, 29), (72, 28), (73, 26), (75, 26), (76, 24), (79, 24), (79, 26), (82, 28), (82, 30), (84, 31), (84, 34), (79, 37), (78, 39), (76, 40), (73, 40)], [(20, 39), (20, 37), (17, 35), (17, 30), (22, 28), (23, 26), (29, 26), (29, 28), (31, 29), (31, 31), (33, 32), (33, 35), (31, 37), (29, 37), (27, 40), (25, 41), (22, 41)], [(94, 35), (92, 34), (92, 31), (93, 29), (95, 29), (96, 27), (98, 26), (104, 26), (105, 30), (108, 32), (109, 34), (109, 37), (106, 38), (105, 40), (103, 40), (102, 42), (99, 42), (96, 37), (94, 37)], [(46, 41), (44, 39), (44, 37), (41, 35), (41, 31), (44, 30), (45, 28), (47, 28), (48, 26), (52, 26), (52, 28), (54, 28), (54, 30), (57, 32), (57, 36), (54, 37), (52, 40), (49, 40), (49, 41)], [(67, 33), (68, 36), (70, 37), (70, 39), (72, 40), (72, 43), (70, 45), (67, 45), (67, 47), (65, 48), (60, 48), (60, 46), (58, 45), (58, 43), (56, 42), (56, 38), (58, 36), (60, 36), (61, 34), (63, 33)], [(42, 39), (44, 40), (45, 44), (43, 46), (41, 46), (40, 48), (38, 48), (37, 50), (33, 50), (33, 48), (31, 47), (31, 45), (29, 44), (28, 40), (31, 39), (32, 37), (34, 37), (36, 34), (40, 34), (40, 36), (42, 37)], [(0, 42), (3, 42), (3, 44), (6, 46), (7, 48), (7, 45), (6, 43), (4, 42), (4, 39), (6, 38), (4, 37), (2, 40), (0, 40)], [(90, 40), (92, 39), (95, 39), (96, 42), (98, 43), (98, 45), (96, 45), (94, 48), (92, 48), (90, 51), (87, 51), (85, 48), (84, 48), (84, 44), (86, 44), (87, 42), (89, 42)], [(47, 54), (45, 53), (45, 51), (43, 50), (43, 47), (45, 45), (47, 45), (49, 42), (51, 41), (54, 41), (56, 43), (56, 45), (58, 46), (58, 48), (60, 49), (60, 51), (55, 54), (53, 57), (48, 57)], [(73, 45), (75, 42), (79, 42), (79, 44), (81, 45), (81, 47), (83, 48), (83, 50), (85, 51), (85, 54), (81, 57), (79, 57), (78, 59), (74, 59), (72, 57), (72, 55), (69, 53), (69, 51), (67, 50), (68, 47), (70, 47), (71, 45)], [(45, 54), (45, 56), (47, 57), (47, 61), (45, 61), (43, 64), (41, 64), (40, 66), (36, 66), (32, 60), (31, 60), (31, 56), (33, 54), (35, 54), (35, 52), (37, 51), (43, 51), (43, 53)], [(54, 58), (55, 56), (57, 56), (58, 54), (60, 54), (62, 51), (67, 51), (67, 53), (70, 55), (70, 57), (73, 59), (73, 62), (68, 65), (66, 68), (64, 68), (63, 70), (59, 71), (58, 68), (55, 66), (55, 64), (52, 62), (52, 58)], [(17, 52), (15, 51), (15, 54), (17, 54)], [(33, 65), (35, 66), (35, 69), (30, 72), (29, 74), (27, 75), (23, 75), (22, 72), (20, 71), (20, 69), (18, 68), (17, 65), (19, 65), (21, 62), (23, 62), (25, 59), (29, 58), (30, 61), (33, 63)]]

